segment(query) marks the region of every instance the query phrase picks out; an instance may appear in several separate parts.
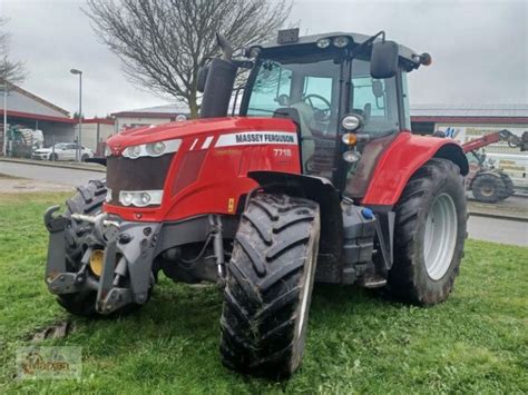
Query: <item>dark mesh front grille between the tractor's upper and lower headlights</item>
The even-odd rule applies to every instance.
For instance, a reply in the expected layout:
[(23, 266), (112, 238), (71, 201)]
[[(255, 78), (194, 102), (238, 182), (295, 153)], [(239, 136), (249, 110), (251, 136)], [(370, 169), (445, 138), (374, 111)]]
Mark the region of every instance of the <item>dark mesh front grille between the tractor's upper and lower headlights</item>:
[(121, 190), (163, 189), (174, 154), (157, 158), (129, 159), (123, 156), (107, 158), (107, 186), (111, 189), (111, 204), (121, 206)]

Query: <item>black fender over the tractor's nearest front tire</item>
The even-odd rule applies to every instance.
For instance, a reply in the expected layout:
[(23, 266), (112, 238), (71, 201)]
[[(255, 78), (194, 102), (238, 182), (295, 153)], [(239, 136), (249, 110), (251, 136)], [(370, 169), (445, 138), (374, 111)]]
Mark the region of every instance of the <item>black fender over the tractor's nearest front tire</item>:
[(338, 190), (324, 177), (283, 171), (250, 171), (264, 190), (287, 189), (300, 197), (319, 203), (321, 210), (321, 239), (319, 259), (321, 264), (338, 263), (343, 247), (343, 213)]

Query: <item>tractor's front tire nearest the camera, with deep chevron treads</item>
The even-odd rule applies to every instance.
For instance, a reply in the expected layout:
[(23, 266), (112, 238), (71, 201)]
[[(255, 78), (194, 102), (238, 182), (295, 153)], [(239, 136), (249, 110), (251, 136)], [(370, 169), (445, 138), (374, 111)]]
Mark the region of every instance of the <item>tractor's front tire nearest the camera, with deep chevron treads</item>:
[(225, 366), (281, 378), (301, 364), (320, 237), (319, 205), (258, 194), (244, 211), (227, 270)]

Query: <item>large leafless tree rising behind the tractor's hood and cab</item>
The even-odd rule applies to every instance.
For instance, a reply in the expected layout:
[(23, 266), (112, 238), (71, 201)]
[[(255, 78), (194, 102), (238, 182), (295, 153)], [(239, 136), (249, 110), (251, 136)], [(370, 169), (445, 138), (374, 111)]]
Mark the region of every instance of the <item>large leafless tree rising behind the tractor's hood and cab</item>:
[(88, 0), (86, 12), (131, 82), (182, 100), (194, 118), (197, 72), (218, 52), (215, 33), (237, 49), (272, 39), (291, 7), (291, 0)]

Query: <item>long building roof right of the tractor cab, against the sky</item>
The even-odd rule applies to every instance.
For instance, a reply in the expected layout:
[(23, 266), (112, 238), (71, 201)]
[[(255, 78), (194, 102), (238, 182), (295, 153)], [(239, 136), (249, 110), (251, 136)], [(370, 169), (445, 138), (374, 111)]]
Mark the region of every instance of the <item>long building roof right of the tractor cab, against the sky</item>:
[(414, 105), (413, 122), (528, 124), (528, 105)]

